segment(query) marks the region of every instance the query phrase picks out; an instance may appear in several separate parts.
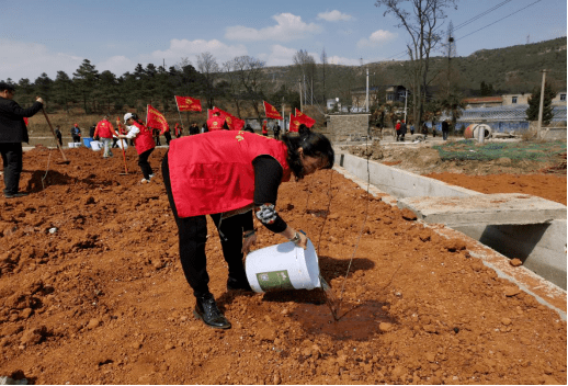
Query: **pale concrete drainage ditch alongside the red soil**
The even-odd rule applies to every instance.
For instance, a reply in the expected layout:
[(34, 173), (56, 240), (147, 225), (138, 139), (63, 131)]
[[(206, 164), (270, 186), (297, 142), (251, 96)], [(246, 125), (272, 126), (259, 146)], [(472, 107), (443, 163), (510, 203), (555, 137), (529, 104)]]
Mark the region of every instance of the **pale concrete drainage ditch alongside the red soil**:
[[(401, 208), (412, 209), (409, 203), (412, 202), (411, 198), (416, 201), (417, 197), (469, 197), (473, 202), (476, 198), (479, 202), (486, 198), (486, 195), (479, 192), (379, 162), (367, 162), (366, 159), (345, 154), (341, 149), (336, 151), (334, 170), (356, 182), (362, 189), (368, 190), (371, 194), (382, 196), (383, 201)], [(553, 207), (554, 214), (538, 213), (535, 216), (537, 219), (531, 220), (529, 215), (529, 218), (509, 222), (514, 224), (502, 224), (499, 220), (496, 223), (500, 224), (490, 224), (490, 218), (486, 216), (481, 223), (468, 225), (467, 222), (461, 222), (446, 226), (443, 222), (429, 224), (420, 218), (420, 213), (417, 216), (419, 222), (441, 235), (458, 235), (475, 242), (477, 248), (473, 256), (480, 258), (484, 264), (493, 269), (499, 276), (514, 282), (566, 320), (566, 206), (544, 198), (537, 201), (541, 200), (545, 202), (545, 206)], [(535, 211), (538, 212), (536, 208)], [(463, 216), (467, 217), (467, 214), (464, 213)], [(513, 268), (509, 263), (512, 258), (522, 260), (523, 265)]]

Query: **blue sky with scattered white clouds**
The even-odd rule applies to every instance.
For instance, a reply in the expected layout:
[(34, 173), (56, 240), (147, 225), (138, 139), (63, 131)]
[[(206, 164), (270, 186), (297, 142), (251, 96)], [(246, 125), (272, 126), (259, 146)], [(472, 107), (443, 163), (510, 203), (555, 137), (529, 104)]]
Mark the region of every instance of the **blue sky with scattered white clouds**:
[[(406, 30), (376, 0), (0, 0), (0, 80), (69, 77), (89, 59), (116, 76), (174, 66), (211, 53), (220, 65), (248, 55), (288, 66), (306, 50), (321, 63), (359, 66), (405, 60)], [(440, 31), (454, 25), (456, 52), (547, 41), (567, 33), (566, 0), (458, 0)], [(434, 56), (442, 55), (440, 50)]]

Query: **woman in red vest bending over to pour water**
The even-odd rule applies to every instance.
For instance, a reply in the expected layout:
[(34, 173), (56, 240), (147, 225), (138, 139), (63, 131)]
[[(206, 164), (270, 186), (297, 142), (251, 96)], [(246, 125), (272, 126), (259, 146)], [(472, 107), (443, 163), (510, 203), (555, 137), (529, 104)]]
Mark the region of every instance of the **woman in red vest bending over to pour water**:
[(205, 216), (212, 217), (219, 234), (229, 271), (227, 290), (251, 291), (242, 259), (257, 242), (252, 213), (269, 230), (306, 249), (307, 237), (275, 209), (279, 186), (292, 175), (299, 180), (331, 169), (333, 161), (329, 139), (304, 125), (299, 136), (284, 135), (282, 140), (217, 130), (172, 141), (162, 175), (178, 225), (183, 273), (196, 298), (196, 318), (213, 328), (231, 326), (208, 288)]

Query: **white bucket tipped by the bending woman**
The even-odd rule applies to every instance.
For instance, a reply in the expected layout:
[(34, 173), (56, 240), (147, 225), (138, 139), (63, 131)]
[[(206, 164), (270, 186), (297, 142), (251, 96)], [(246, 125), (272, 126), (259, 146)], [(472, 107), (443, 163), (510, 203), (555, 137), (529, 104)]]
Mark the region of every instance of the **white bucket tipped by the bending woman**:
[(245, 270), (254, 292), (321, 286), (318, 256), (309, 239), (306, 250), (288, 241), (252, 251), (247, 256)]

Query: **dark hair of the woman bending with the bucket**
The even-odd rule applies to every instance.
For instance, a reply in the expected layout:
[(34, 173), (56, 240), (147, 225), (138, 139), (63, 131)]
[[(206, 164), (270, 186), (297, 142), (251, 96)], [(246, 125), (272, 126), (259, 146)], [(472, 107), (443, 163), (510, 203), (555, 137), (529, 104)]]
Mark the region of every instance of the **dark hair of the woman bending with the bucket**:
[(333, 168), (336, 152), (330, 140), (323, 134), (314, 133), (306, 125), (299, 125), (298, 134), (298, 136), (289, 134), (282, 136), (282, 141), (288, 148), (288, 166), (296, 179), (302, 180), (305, 175), (304, 166), (298, 154), (298, 148), (300, 147), (304, 150), (304, 156), (327, 159), (328, 164), (323, 169)]

